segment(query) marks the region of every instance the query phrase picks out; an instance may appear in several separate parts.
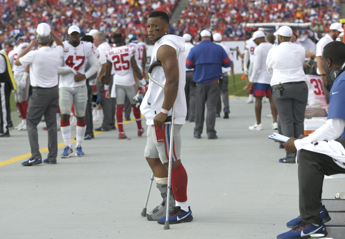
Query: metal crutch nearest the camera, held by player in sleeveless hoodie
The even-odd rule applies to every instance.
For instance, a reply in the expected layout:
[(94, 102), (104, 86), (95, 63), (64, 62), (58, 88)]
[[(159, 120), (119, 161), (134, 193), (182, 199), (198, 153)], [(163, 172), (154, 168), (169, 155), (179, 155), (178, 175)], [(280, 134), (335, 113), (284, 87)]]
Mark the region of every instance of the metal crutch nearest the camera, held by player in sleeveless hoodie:
[[(180, 51), (181, 49), (177, 49), (176, 52), (176, 58), (178, 60), (178, 56), (180, 55)], [(157, 80), (155, 80), (152, 76), (152, 69), (156, 66), (161, 66), (162, 64), (159, 61), (156, 61), (154, 63), (152, 63), (148, 69), (148, 75), (150, 80), (152, 80), (152, 82), (154, 82), (155, 84), (159, 85), (160, 87), (162, 87), (164, 89), (164, 85), (160, 84), (159, 82), (157, 82)], [(170, 146), (169, 146), (169, 167), (168, 167), (168, 193), (167, 193), (167, 201), (166, 201), (166, 206), (167, 206), (167, 214), (165, 217), (165, 223), (164, 223), (164, 230), (170, 229), (169, 226), (169, 197), (170, 197), (170, 189), (171, 189), (171, 165), (172, 165), (172, 143), (174, 141), (174, 121), (175, 121), (175, 102), (174, 105), (172, 105), (172, 115), (171, 115), (171, 129), (170, 129)]]

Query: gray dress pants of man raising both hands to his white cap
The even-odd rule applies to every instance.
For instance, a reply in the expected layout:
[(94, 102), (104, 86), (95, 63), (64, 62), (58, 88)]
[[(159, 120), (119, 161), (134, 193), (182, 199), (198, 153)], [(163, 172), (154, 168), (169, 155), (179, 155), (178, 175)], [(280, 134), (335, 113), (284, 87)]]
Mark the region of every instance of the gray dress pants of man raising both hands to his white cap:
[(56, 128), (56, 112), (59, 108), (59, 88), (32, 87), (26, 117), (26, 127), (33, 159), (42, 159), (38, 145), (37, 125), (42, 115), (46, 120), (48, 130), (48, 159), (56, 162), (58, 153), (58, 134)]

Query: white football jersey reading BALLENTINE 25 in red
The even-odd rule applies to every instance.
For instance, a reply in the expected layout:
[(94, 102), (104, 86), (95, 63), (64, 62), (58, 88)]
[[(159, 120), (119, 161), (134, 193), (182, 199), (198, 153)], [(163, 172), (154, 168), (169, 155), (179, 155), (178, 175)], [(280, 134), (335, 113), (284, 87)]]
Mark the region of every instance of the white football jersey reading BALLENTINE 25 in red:
[(113, 65), (116, 85), (131, 86), (135, 84), (131, 58), (135, 54), (133, 45), (112, 47), (106, 51), (106, 58)]

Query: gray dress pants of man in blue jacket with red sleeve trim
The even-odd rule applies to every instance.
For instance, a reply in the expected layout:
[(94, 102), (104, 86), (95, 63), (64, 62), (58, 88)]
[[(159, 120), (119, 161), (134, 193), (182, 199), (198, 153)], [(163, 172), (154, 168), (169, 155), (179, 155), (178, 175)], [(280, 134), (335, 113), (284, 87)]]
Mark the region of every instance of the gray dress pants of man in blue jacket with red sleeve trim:
[(196, 85), (196, 111), (194, 133), (201, 135), (205, 120), (205, 103), (207, 106), (206, 132), (208, 138), (216, 136), (216, 107), (220, 94), (220, 85), (218, 80), (206, 84)]

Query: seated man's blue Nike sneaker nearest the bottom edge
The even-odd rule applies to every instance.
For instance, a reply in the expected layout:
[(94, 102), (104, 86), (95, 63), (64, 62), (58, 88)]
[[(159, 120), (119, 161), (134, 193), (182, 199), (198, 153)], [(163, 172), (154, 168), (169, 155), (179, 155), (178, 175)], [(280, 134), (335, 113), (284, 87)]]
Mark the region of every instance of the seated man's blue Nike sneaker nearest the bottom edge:
[(321, 224), (319, 226), (314, 226), (308, 222), (300, 222), (290, 231), (282, 233), (277, 236), (277, 239), (302, 239), (302, 238), (310, 238), (310, 235), (314, 233), (322, 233), (327, 236), (327, 231), (325, 224), (322, 220), (320, 220)]

